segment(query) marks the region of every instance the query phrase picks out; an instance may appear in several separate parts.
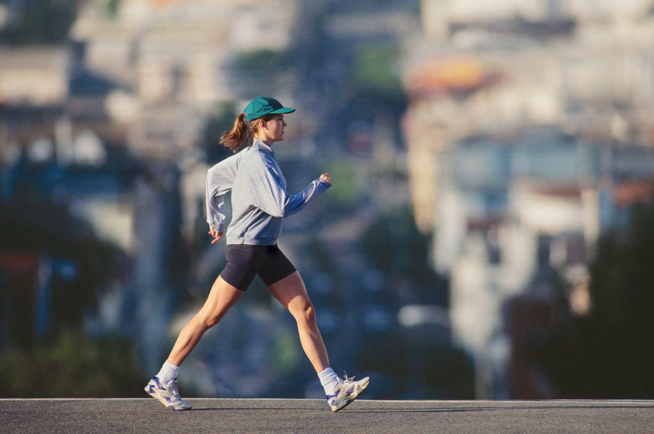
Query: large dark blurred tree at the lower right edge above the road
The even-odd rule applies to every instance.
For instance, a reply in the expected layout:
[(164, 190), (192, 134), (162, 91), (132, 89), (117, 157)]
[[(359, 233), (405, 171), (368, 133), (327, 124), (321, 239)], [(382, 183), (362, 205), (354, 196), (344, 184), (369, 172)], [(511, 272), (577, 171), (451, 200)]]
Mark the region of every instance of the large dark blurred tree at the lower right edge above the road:
[(654, 398), (652, 203), (632, 206), (630, 215), (627, 228), (598, 241), (590, 315), (570, 315), (560, 302), (557, 326), (532, 340), (528, 356), (562, 398)]

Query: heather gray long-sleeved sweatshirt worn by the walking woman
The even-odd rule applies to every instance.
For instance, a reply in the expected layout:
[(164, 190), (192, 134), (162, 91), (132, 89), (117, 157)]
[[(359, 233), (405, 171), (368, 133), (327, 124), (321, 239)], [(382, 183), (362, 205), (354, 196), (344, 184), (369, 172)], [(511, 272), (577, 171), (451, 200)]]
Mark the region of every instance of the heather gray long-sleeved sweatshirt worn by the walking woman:
[(207, 223), (223, 232), (225, 194), (232, 190), (227, 243), (273, 245), (282, 232), (282, 218), (300, 211), (328, 187), (318, 178), (298, 194), (286, 193), (273, 148), (255, 138), (251, 147), (209, 169)]

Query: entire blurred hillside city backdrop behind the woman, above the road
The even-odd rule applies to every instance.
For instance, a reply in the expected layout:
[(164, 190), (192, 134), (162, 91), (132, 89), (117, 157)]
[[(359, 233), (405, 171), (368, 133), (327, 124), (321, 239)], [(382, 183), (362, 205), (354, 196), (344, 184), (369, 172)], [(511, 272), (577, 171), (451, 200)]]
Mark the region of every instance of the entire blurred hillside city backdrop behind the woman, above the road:
[[(368, 398), (654, 398), (652, 0), (0, 0), (0, 397), (145, 396), (257, 96), (334, 180), (279, 245)], [(324, 397), (258, 278), (179, 380)]]

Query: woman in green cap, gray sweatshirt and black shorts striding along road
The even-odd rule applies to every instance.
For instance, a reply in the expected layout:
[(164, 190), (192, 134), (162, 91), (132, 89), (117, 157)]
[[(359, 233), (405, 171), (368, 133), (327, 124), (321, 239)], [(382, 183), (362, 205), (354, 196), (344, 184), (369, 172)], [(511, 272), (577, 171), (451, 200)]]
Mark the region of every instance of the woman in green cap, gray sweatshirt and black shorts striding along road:
[(300, 211), (332, 185), (329, 174), (322, 174), (300, 193), (286, 193), (286, 180), (275, 159), (273, 144), (284, 140), (284, 114), (294, 111), (275, 99), (258, 97), (236, 118), (232, 131), (220, 139), (234, 152), (241, 144), (248, 144), (247, 149), (210, 168), (207, 175), (207, 222), (214, 238), (211, 243), (222, 238), (224, 196), (232, 191), (227, 265), (203, 307), (179, 333), (161, 371), (145, 387), (169, 409), (191, 408), (177, 391), (179, 367), (202, 335), (241, 298), (256, 274), (298, 322), (302, 349), (318, 373), (332, 411), (339, 411), (368, 387), (368, 377), (341, 380), (330, 367), (300, 273), (277, 247), (283, 217)]

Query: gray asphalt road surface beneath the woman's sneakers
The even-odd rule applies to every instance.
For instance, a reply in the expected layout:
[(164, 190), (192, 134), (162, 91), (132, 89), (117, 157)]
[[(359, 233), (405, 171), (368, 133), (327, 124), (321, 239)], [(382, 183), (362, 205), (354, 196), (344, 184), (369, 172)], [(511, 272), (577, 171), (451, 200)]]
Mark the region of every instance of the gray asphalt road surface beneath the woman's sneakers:
[(654, 433), (654, 401), (0, 399), (0, 433)]

